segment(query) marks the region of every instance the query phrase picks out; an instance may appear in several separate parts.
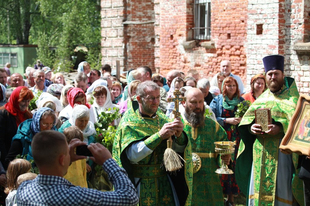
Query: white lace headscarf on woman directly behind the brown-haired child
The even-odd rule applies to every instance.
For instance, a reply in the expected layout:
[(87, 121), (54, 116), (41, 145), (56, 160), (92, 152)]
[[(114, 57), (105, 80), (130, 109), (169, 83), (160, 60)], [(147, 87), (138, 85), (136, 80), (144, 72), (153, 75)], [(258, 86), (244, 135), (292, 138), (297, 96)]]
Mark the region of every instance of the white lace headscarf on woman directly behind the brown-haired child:
[[(72, 116), (69, 119), (69, 123), (75, 126), (75, 121), (78, 118), (90, 117), (89, 109), (85, 105), (76, 105), (72, 110)], [(96, 134), (95, 126), (91, 121), (88, 121), (87, 126), (82, 131), (84, 136), (84, 142), (88, 143), (88, 137)]]

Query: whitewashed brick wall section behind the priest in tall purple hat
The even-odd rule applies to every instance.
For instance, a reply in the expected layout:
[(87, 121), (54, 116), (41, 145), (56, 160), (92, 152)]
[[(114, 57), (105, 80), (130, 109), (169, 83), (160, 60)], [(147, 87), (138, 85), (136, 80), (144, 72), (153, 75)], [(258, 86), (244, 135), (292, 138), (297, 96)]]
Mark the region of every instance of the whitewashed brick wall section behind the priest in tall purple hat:
[[(285, 74), (295, 79), (299, 92), (310, 92), (309, 55), (298, 55), (293, 49), (294, 44), (308, 41), (309, 7), (309, 1), (301, 0), (249, 0), (247, 84), (263, 68), (263, 57), (280, 54), (285, 56)], [(263, 25), (262, 34), (257, 34), (258, 24)]]

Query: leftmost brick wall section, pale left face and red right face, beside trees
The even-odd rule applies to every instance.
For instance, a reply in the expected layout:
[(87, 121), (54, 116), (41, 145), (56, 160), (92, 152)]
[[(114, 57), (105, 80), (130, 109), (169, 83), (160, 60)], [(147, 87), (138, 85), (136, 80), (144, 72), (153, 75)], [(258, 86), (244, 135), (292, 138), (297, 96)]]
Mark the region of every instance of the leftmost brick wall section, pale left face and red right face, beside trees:
[(121, 70), (146, 65), (154, 70), (153, 0), (101, 1), (101, 63), (120, 60)]

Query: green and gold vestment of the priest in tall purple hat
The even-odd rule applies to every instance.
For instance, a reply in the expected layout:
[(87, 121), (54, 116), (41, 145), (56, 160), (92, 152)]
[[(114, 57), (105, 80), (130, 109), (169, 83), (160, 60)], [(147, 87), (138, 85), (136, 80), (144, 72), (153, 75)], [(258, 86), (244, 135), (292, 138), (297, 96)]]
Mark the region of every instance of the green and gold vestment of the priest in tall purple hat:
[[(291, 201), (279, 198), (275, 195), (277, 185), (279, 145), (294, 111), (296, 109), (299, 93), (293, 78), (285, 77), (284, 85), (279, 94), (273, 94), (267, 89), (257, 98), (239, 124), (241, 143), (236, 162), (236, 179), (241, 191), (247, 199), (253, 199), (254, 205), (274, 205), (275, 200), (279, 203), (292, 204)], [(255, 109), (270, 108), (272, 124), (281, 126), (278, 135), (254, 135), (250, 127), (255, 123)], [(280, 181), (292, 181), (292, 193), (299, 204), (303, 205), (302, 181), (295, 177), (298, 155), (292, 154), (294, 163), (293, 177)], [(253, 164), (254, 195), (249, 195), (250, 174)], [(291, 163), (288, 163), (291, 164)], [(286, 171), (278, 171), (285, 173)], [(247, 201), (248, 204), (248, 201)]]

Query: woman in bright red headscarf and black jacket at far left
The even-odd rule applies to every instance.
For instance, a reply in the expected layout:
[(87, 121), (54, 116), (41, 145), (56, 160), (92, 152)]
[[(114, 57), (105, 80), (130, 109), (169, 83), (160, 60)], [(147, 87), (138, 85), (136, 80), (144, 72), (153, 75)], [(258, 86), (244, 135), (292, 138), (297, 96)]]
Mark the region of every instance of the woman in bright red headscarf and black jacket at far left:
[(21, 122), (31, 119), (27, 110), (33, 93), (27, 87), (17, 87), (12, 92), (10, 101), (0, 108), (0, 152), (1, 163), (5, 165), (7, 152), (10, 150), (12, 138)]

